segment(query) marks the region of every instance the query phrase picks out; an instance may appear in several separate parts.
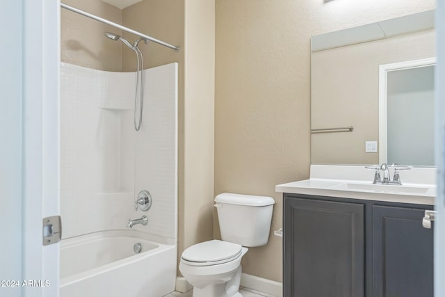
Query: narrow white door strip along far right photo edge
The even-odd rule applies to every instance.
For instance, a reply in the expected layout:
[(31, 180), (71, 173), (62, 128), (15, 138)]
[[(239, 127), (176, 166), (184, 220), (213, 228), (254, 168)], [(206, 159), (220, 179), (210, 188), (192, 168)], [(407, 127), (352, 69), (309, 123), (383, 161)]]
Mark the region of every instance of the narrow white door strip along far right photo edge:
[(445, 1), (437, 1), (437, 67), (435, 73), (435, 118), (437, 198), (435, 208), (435, 296), (445, 296)]

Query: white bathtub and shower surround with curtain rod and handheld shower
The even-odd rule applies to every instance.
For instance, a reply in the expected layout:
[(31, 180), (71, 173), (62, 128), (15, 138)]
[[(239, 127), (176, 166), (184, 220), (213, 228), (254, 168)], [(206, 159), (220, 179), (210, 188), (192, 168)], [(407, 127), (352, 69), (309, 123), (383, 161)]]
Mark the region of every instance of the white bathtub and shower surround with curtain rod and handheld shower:
[[(135, 52), (136, 73), (61, 65), (60, 296), (165, 296), (175, 290), (177, 272), (178, 65), (143, 70), (138, 44), (178, 48), (61, 7), (138, 39), (130, 44), (105, 33)], [(135, 209), (144, 190), (152, 196), (149, 211)], [(141, 216), (148, 224), (125, 228)]]

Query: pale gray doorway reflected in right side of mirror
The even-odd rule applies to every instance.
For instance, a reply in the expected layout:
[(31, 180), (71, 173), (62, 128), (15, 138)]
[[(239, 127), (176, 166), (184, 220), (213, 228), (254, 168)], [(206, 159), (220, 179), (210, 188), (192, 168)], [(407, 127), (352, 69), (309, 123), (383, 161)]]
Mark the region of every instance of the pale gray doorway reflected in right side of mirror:
[[(435, 165), (435, 66), (430, 59), (423, 62), (425, 65), (419, 65), (421, 61), (414, 61), (414, 67), (407, 67), (410, 65), (408, 61), (401, 63), (399, 68), (393, 64), (386, 69), (386, 133), (382, 131), (385, 125), (380, 125), (379, 133), (384, 137), (386, 134), (387, 158), (382, 163)], [(380, 116), (383, 116), (382, 112)], [(382, 152), (385, 150), (385, 140), (381, 144)]]

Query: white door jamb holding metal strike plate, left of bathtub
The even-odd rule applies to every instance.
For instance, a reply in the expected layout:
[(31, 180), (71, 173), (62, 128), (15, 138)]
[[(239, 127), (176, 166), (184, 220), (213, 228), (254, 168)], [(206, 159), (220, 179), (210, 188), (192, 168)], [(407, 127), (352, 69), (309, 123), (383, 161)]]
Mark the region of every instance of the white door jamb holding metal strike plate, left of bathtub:
[(23, 296), (58, 296), (60, 243), (42, 245), (42, 218), (60, 215), (60, 0), (23, 1)]

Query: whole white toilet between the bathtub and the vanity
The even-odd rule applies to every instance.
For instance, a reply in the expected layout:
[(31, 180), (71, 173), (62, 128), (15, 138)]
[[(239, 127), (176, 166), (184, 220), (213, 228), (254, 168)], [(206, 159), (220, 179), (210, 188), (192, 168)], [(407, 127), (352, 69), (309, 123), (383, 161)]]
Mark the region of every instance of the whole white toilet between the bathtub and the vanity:
[(265, 196), (221, 193), (215, 204), (220, 240), (184, 250), (179, 271), (193, 285), (193, 297), (243, 297), (241, 259), (248, 247), (265, 246), (275, 200)]

